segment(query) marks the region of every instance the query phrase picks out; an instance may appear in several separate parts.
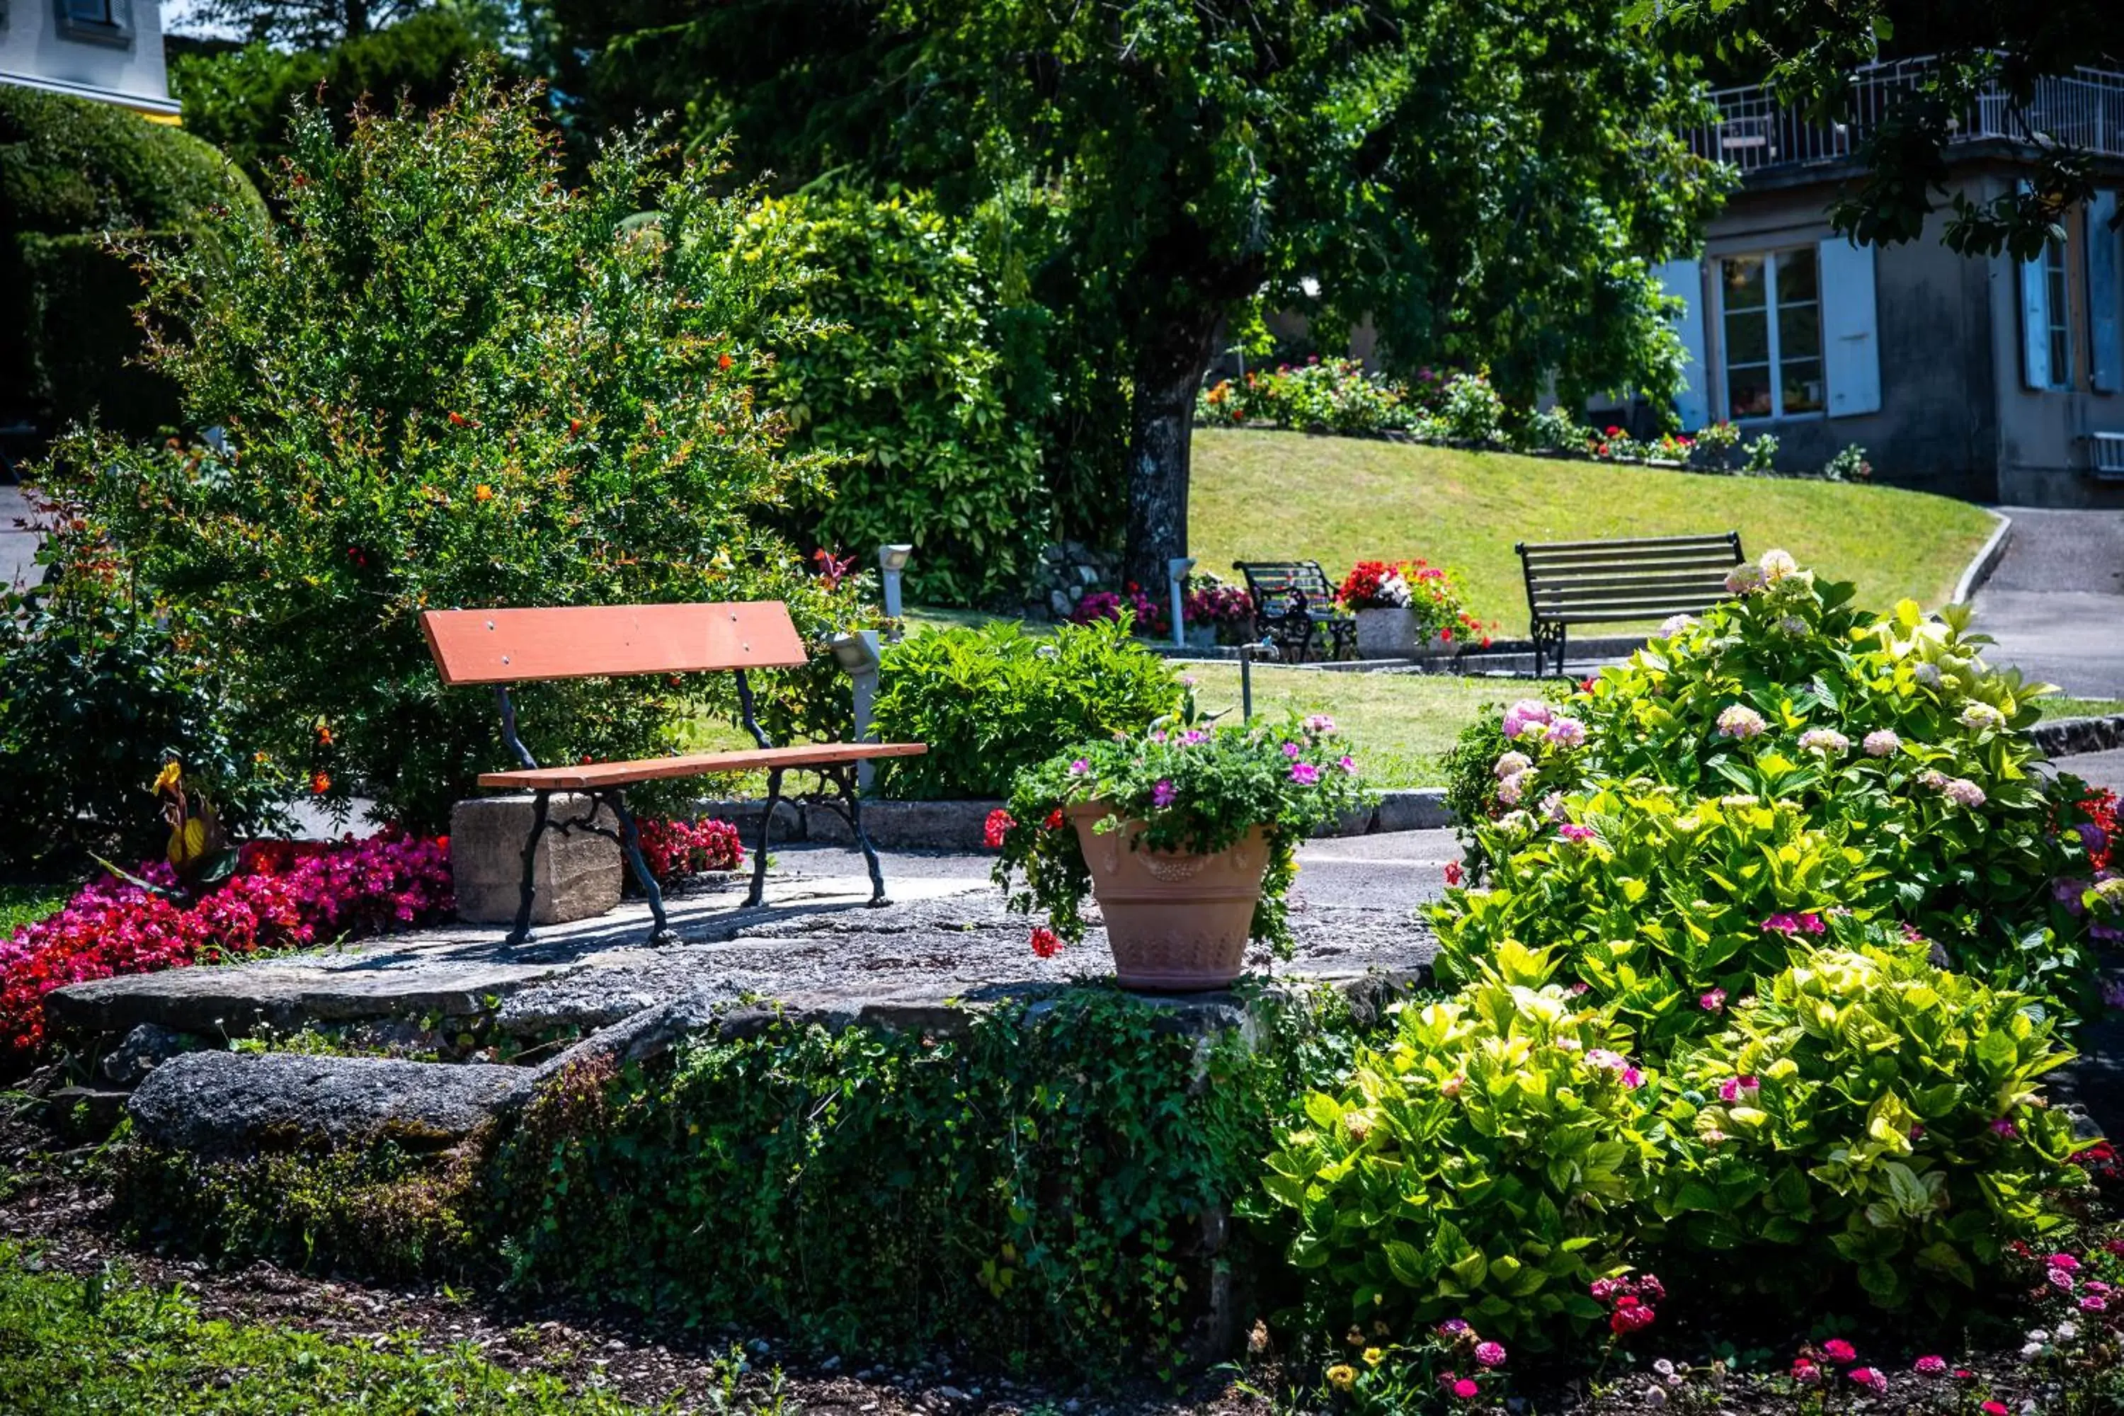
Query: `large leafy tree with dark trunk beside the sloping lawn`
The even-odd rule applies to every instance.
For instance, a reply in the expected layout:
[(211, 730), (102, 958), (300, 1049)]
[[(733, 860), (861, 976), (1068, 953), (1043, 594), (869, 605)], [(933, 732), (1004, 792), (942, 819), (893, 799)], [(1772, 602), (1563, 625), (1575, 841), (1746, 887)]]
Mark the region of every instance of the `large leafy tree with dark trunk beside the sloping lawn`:
[(784, 180), (1051, 197), (1026, 206), (1058, 214), (1037, 284), (1128, 374), (1141, 582), (1185, 550), (1194, 395), (1253, 301), (1328, 338), (1370, 316), (1389, 359), (1489, 365), (1521, 399), (1676, 378), (1648, 263), (1691, 244), (1718, 174), (1676, 138), (1689, 62), (1614, 0), (556, 11), (593, 104), (756, 136)]

